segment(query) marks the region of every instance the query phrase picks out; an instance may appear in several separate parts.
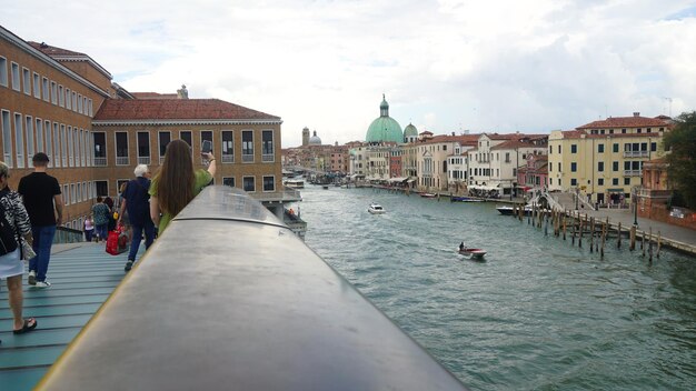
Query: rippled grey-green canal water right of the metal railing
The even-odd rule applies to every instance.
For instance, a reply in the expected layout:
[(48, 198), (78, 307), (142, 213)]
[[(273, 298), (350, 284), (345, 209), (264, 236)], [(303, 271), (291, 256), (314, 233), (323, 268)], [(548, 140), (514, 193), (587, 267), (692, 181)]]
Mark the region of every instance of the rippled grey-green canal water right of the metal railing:
[(301, 194), (306, 243), (473, 390), (696, 389), (694, 259), (610, 240), (600, 260), (491, 203)]

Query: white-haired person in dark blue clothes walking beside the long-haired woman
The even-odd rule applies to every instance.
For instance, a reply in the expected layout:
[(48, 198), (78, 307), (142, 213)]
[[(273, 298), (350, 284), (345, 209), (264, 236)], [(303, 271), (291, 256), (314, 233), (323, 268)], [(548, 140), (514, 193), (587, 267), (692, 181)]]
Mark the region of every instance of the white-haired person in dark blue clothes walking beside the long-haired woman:
[(130, 243), (126, 271), (129, 271), (136, 262), (136, 255), (140, 248), (140, 240), (145, 233), (145, 248), (149, 249), (155, 241), (155, 223), (150, 219), (150, 170), (146, 164), (139, 164), (133, 171), (136, 179), (131, 179), (121, 194), (123, 201), (119, 210), (119, 221), (128, 212), (128, 219), (132, 227), (133, 238)]

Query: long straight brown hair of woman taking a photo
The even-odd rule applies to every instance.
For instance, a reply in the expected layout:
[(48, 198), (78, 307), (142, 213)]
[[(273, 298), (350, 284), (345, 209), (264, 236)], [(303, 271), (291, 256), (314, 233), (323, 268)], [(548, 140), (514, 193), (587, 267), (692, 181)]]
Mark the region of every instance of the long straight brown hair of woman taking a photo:
[(193, 159), (188, 142), (172, 140), (165, 163), (157, 173), (157, 198), (163, 212), (172, 217), (193, 199)]

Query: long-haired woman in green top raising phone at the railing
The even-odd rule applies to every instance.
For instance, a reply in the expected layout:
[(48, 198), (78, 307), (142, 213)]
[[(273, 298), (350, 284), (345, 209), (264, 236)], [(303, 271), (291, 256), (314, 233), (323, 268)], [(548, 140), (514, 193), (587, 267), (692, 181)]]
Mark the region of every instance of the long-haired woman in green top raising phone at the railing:
[[(188, 142), (172, 140), (165, 152), (165, 163), (150, 184), (150, 217), (161, 235), (173, 219), (193, 197), (212, 181), (216, 166), (211, 152), (201, 152), (209, 161), (207, 170), (193, 170), (193, 159)], [(160, 218), (161, 214), (161, 218)]]

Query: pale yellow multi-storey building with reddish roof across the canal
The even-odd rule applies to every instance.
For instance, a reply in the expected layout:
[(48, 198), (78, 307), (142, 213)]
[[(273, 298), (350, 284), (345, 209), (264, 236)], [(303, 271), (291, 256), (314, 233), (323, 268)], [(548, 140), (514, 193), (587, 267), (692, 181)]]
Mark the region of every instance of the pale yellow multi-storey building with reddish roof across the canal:
[(577, 192), (591, 203), (622, 203), (642, 182), (643, 163), (664, 154), (668, 118), (608, 118), (548, 139), (549, 190)]

